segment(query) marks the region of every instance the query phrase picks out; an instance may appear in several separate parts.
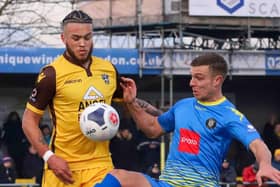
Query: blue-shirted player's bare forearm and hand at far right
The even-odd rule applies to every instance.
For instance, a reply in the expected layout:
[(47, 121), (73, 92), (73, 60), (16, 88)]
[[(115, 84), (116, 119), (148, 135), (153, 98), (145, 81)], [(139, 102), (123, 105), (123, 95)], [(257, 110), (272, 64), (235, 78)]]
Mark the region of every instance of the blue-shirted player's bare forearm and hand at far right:
[(250, 149), (254, 153), (259, 164), (257, 172), (257, 182), (262, 185), (262, 178), (269, 178), (280, 185), (280, 171), (271, 166), (271, 153), (261, 139), (256, 139), (250, 144)]

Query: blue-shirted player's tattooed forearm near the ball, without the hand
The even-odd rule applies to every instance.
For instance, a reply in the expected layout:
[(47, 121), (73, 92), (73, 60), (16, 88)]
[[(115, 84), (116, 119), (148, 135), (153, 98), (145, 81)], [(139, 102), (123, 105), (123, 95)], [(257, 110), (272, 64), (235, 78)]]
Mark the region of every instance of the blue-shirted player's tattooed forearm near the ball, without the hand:
[(141, 99), (135, 99), (133, 102), (127, 103), (127, 107), (137, 127), (141, 129), (146, 136), (155, 138), (162, 134), (157, 123), (157, 116), (159, 116), (162, 111)]

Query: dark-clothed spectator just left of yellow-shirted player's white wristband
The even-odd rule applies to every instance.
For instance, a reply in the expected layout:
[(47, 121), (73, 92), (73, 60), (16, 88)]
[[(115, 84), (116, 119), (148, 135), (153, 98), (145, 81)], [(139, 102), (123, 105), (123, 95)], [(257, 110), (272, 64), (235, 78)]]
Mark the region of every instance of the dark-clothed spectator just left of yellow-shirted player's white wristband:
[(37, 184), (42, 182), (42, 174), (44, 168), (44, 161), (38, 155), (36, 149), (29, 145), (28, 152), (26, 152), (23, 159), (22, 175), (24, 178), (34, 178)]

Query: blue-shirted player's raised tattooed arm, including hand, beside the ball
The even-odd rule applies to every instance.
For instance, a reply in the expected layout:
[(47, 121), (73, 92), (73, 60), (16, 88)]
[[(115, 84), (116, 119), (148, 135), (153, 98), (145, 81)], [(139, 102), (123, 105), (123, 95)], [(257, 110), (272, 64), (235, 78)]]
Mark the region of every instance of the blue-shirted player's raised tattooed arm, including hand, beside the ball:
[(164, 131), (157, 120), (157, 116), (162, 112), (149, 103), (136, 98), (137, 87), (134, 80), (121, 77), (121, 87), (123, 89), (123, 101), (126, 103), (138, 128), (150, 138), (162, 135)]

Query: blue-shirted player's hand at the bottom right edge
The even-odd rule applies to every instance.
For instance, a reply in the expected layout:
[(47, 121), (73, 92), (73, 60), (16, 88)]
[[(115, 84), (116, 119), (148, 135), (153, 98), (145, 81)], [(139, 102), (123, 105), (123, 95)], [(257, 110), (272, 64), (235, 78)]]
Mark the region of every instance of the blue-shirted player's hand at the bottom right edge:
[(263, 184), (262, 178), (269, 178), (280, 185), (280, 171), (270, 165), (259, 168), (256, 175), (259, 186)]

